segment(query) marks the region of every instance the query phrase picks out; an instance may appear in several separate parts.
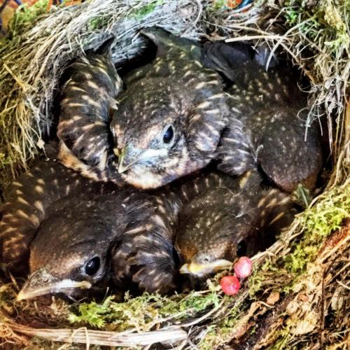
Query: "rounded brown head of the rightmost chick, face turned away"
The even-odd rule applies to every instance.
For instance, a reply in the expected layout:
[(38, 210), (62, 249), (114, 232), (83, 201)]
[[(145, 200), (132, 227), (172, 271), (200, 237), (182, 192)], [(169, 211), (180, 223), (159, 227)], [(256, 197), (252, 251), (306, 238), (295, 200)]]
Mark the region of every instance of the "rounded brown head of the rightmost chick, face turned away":
[(299, 183), (313, 189), (323, 164), (318, 129), (315, 123), (307, 127), (306, 115), (295, 107), (270, 106), (255, 112), (260, 123), (249, 123), (257, 163), (287, 192)]

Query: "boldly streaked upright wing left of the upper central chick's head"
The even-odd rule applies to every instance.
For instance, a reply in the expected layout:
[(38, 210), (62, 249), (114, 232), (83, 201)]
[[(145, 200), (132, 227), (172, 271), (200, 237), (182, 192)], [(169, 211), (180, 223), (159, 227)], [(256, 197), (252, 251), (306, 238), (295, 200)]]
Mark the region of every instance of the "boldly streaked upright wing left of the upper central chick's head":
[(57, 137), (59, 160), (96, 181), (120, 182), (111, 151), (109, 116), (123, 87), (111, 59), (113, 38), (69, 66), (62, 87)]

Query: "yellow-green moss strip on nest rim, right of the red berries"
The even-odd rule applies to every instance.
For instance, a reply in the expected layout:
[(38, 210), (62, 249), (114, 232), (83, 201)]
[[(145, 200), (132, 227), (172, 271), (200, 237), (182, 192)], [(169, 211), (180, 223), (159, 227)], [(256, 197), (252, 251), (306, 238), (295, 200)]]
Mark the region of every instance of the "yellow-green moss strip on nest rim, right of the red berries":
[[(284, 276), (286, 283), (279, 291), (288, 293), (304, 274), (307, 263), (316, 258), (325, 239), (338, 230), (342, 221), (350, 217), (350, 186), (342, 186), (322, 195), (318, 202), (297, 217), (302, 238), (290, 246), (290, 253), (277, 260), (266, 260), (254, 269), (248, 286), (255, 296), (272, 274)], [(289, 282), (288, 282), (289, 281)]]

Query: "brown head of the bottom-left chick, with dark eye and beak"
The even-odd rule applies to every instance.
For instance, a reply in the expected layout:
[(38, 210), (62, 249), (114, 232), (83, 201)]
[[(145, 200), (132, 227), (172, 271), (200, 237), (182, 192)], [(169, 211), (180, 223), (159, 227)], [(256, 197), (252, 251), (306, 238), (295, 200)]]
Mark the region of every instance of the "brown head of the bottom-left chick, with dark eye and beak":
[(109, 246), (116, 230), (101, 213), (90, 211), (80, 217), (63, 213), (48, 216), (32, 241), (31, 274), (18, 300), (50, 293), (80, 295), (81, 289), (103, 286), (108, 279)]

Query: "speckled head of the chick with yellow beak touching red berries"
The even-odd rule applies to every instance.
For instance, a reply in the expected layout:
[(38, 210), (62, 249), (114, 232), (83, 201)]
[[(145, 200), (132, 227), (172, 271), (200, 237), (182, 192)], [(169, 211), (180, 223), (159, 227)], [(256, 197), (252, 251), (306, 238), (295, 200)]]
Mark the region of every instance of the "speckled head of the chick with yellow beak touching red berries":
[(229, 269), (239, 256), (251, 253), (255, 218), (246, 196), (239, 180), (225, 177), (188, 204), (176, 242), (186, 262), (181, 273), (205, 276)]

